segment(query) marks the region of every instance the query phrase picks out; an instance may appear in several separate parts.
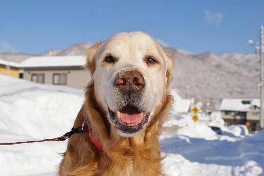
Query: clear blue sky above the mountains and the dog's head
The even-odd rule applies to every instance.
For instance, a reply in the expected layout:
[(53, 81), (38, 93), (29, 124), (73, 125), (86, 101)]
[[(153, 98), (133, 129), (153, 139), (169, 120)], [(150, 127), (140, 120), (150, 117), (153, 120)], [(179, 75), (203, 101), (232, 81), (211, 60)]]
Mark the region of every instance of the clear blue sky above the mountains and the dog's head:
[(40, 54), (121, 31), (193, 53), (253, 53), (264, 0), (0, 0), (0, 52)]

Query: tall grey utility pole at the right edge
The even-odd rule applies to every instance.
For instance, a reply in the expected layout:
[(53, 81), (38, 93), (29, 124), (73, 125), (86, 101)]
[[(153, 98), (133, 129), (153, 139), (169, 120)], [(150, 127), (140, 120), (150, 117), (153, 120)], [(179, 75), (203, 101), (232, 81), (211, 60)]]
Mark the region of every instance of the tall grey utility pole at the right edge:
[[(264, 27), (260, 28), (260, 43), (254, 43), (253, 40), (248, 40), (248, 45), (260, 45), (260, 129), (264, 128)], [(259, 49), (256, 47), (256, 52)]]

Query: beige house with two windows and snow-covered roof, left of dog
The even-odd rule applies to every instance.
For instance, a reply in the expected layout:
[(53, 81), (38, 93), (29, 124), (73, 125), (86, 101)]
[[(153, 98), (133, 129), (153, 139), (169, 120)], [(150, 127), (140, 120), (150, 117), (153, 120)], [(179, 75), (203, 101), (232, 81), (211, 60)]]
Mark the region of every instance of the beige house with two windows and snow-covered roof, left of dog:
[(84, 89), (91, 79), (84, 56), (38, 56), (19, 64), (21, 78), (44, 84)]

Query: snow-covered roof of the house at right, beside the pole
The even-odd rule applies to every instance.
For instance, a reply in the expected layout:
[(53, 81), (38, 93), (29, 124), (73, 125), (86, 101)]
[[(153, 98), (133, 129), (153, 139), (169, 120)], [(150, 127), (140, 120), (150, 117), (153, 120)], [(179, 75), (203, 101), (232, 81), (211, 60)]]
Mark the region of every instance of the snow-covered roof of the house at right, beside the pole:
[(259, 99), (223, 99), (219, 109), (226, 111), (249, 111), (252, 106), (260, 107)]

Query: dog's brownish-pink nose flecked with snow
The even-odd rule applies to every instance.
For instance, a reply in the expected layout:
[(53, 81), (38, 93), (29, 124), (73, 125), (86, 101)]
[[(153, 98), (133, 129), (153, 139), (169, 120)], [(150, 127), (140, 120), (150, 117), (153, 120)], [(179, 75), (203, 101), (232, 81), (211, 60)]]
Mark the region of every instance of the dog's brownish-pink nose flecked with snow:
[(137, 71), (126, 71), (118, 75), (115, 84), (122, 92), (129, 92), (132, 94), (144, 89), (145, 80)]

